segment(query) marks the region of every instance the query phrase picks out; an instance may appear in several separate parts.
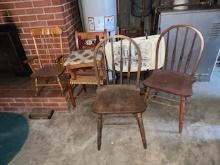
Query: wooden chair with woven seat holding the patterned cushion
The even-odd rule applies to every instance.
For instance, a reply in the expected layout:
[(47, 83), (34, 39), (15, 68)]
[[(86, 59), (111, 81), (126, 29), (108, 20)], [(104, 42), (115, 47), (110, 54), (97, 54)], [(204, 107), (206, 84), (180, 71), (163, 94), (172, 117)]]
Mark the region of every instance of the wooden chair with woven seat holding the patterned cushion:
[[(95, 46), (103, 39), (106, 39), (107, 32), (75, 32), (76, 50), (94, 49)], [(93, 54), (93, 53), (92, 53)], [(78, 54), (79, 55), (79, 54)], [(83, 53), (81, 54), (83, 55)], [(76, 97), (80, 95), (82, 89), (86, 91), (86, 85), (96, 85), (96, 76), (94, 67), (74, 68), (67, 67), (68, 72), (71, 74), (70, 84), (72, 87), (72, 104), (76, 106)], [(105, 77), (103, 77), (103, 80)], [(77, 94), (74, 91), (78, 85), (82, 85), (83, 88), (79, 90)]]

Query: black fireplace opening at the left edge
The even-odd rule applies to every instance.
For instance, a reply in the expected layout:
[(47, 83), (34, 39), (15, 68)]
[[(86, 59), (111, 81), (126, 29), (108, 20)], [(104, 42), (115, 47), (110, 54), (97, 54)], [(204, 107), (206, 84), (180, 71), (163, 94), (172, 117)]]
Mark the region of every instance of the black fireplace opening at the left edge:
[(29, 76), (31, 69), (18, 35), (18, 29), (11, 24), (0, 25), (0, 76)]

